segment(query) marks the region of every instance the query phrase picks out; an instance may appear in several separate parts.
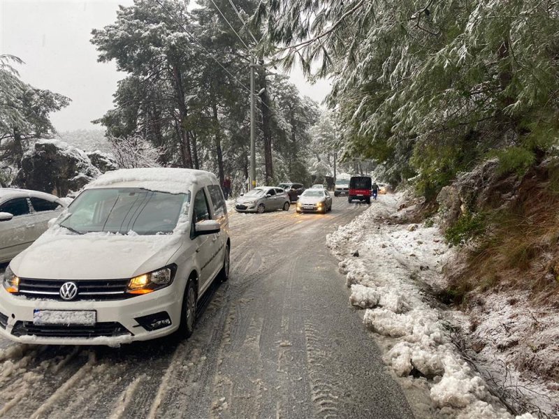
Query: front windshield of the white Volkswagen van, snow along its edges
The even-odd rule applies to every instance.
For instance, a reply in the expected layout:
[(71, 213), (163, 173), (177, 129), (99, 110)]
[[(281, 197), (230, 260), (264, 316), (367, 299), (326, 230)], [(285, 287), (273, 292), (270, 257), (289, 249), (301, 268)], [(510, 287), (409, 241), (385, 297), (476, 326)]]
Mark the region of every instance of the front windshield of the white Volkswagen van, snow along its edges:
[(170, 234), (190, 193), (140, 188), (87, 189), (68, 207), (60, 226), (76, 233)]

